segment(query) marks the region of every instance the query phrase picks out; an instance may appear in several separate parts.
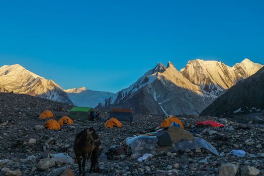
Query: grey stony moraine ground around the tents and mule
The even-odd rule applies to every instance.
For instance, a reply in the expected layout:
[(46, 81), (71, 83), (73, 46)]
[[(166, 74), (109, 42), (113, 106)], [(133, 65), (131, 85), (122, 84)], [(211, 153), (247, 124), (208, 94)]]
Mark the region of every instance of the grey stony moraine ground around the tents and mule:
[[(67, 167), (77, 175), (76, 162), (73, 165), (50, 163), (49, 168), (43, 168), (39, 161), (49, 152), (68, 153), (74, 158), (75, 135), (89, 126), (94, 126), (100, 135), (104, 153), (113, 145), (124, 144), (127, 137), (149, 132), (162, 120), (160, 116), (134, 114), (134, 122), (122, 122), (122, 128), (110, 129), (104, 127), (104, 122), (92, 121), (74, 121), (73, 125), (64, 125), (60, 130), (41, 128), (44, 121), (38, 116), (42, 111), (51, 110), (58, 120), (68, 115), (70, 108), (66, 104), (27, 95), (0, 94), (0, 175), (60, 175)], [(108, 116), (106, 112), (101, 113), (101, 117)], [(264, 125), (205, 116), (180, 119), (187, 130), (196, 128), (196, 121), (214, 120), (225, 124), (222, 128), (201, 127), (197, 133), (221, 156), (202, 148), (175, 153), (164, 151), (141, 162), (133, 155), (113, 156), (109, 160), (101, 157), (101, 172), (91, 175), (227, 175), (227, 172), (264, 175)], [(246, 157), (228, 156), (233, 149), (244, 150)], [(250, 157), (250, 154), (254, 156)], [(90, 163), (86, 164), (87, 171), (89, 167)]]

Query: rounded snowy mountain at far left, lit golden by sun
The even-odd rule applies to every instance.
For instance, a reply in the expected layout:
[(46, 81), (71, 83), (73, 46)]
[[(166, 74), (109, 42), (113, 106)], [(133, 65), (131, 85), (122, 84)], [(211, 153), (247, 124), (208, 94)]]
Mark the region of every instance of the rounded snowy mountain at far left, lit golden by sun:
[(12, 91), (72, 104), (67, 94), (53, 80), (45, 79), (19, 64), (0, 67), (0, 92)]

